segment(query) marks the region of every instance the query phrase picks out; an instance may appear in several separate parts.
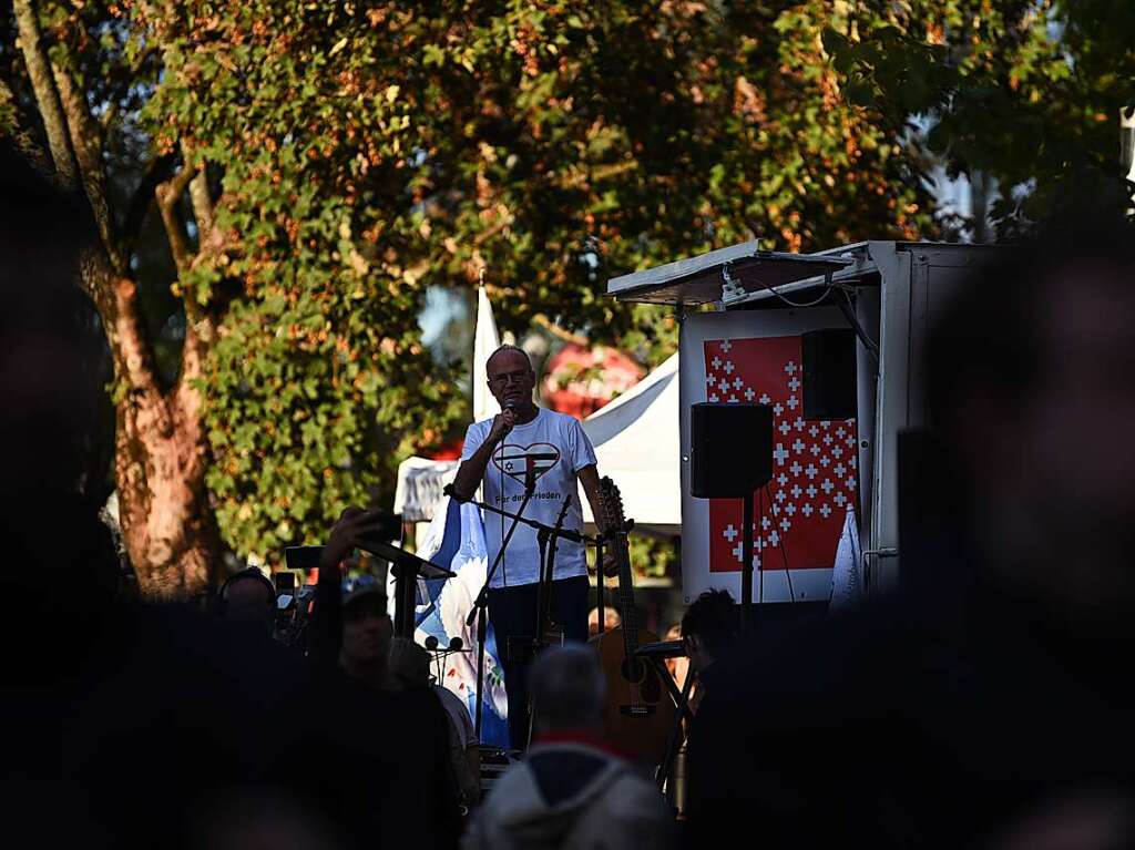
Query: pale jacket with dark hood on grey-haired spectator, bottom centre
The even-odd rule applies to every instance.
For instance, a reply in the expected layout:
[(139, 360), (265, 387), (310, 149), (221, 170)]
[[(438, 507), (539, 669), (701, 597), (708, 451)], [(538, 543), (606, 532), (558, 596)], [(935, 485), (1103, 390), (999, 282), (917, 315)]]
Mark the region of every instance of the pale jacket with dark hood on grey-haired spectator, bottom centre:
[(465, 834), (465, 850), (599, 850), (674, 845), (657, 789), (611, 750), (547, 741), (496, 783)]

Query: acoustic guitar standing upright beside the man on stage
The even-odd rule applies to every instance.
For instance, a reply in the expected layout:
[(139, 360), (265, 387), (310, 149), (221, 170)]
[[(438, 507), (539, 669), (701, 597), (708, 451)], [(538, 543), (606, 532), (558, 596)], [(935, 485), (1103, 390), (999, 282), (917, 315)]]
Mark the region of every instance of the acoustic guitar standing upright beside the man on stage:
[[(674, 725), (674, 702), (655, 668), (636, 657), (639, 641), (657, 642), (649, 631), (639, 631), (634, 611), (634, 583), (627, 545), (627, 521), (619, 488), (609, 478), (600, 482), (605, 537), (619, 566), (619, 606), (622, 625), (594, 638), (607, 679), (605, 721), (611, 739), (644, 761), (658, 764)], [(602, 581), (602, 565), (599, 566)]]

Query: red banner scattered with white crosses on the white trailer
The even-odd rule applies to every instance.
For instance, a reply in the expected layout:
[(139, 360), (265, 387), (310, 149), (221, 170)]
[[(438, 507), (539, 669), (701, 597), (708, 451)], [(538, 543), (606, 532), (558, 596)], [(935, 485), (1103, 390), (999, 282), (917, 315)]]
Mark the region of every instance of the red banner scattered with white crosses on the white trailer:
[[(773, 409), (773, 478), (756, 495), (754, 566), (831, 569), (855, 506), (856, 421), (804, 418), (799, 336), (705, 342), (706, 401)], [(754, 446), (737, 446), (737, 452)], [(709, 502), (709, 572), (741, 569), (741, 502)]]

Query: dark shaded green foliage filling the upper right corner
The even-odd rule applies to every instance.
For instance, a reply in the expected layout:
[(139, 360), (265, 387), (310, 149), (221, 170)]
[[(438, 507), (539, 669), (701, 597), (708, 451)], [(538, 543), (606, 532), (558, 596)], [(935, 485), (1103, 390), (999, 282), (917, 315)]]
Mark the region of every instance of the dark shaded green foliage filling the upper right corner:
[(1002, 187), (1006, 235), (1126, 203), (1119, 109), (1135, 102), (1135, 5), (1107, 0), (857, 3), (824, 32), (848, 94), (918, 118), (948, 172)]

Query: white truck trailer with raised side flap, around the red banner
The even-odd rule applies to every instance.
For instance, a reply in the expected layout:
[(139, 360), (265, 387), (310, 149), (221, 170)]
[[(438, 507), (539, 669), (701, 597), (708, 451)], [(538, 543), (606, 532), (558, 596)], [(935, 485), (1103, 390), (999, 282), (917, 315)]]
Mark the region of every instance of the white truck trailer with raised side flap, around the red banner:
[[(707, 566), (712, 558), (706, 538), (735, 530), (732, 525), (724, 531), (711, 529), (705, 500), (689, 495), (689, 409), (698, 401), (718, 397), (713, 392), (713, 364), (706, 362), (706, 352), (716, 350), (712, 345), (707, 348), (706, 342), (720, 337), (728, 347), (729, 339), (738, 334), (775, 337), (814, 328), (842, 327), (855, 333), (858, 436), (856, 460), (849, 465), (864, 474), (846, 476), (843, 481), (854, 481), (857, 490), (856, 527), (865, 589), (868, 594), (880, 592), (896, 584), (900, 570), (897, 444), (900, 431), (925, 422), (920, 352), (930, 321), (967, 269), (990, 250), (983, 245), (872, 241), (813, 254), (790, 254), (762, 251), (756, 242), (748, 242), (607, 283), (608, 295), (620, 301), (670, 304), (682, 318), (681, 421), (675, 424), (681, 431), (687, 600), (706, 587), (726, 587), (734, 595), (739, 588), (737, 572), (711, 574), (712, 567)], [(852, 356), (850, 345), (847, 352), (848, 357)], [(721, 376), (717, 381), (716, 386), (722, 386)], [(741, 386), (739, 378), (733, 384)], [(729, 398), (734, 399), (745, 401)], [(788, 421), (782, 424), (785, 435), (791, 426)], [(777, 463), (791, 460), (791, 445), (779, 448), (784, 458), (777, 458)], [(770, 490), (768, 495), (775, 505), (774, 494)], [(777, 491), (776, 496), (783, 499), (781, 505), (792, 504), (791, 494)], [(802, 494), (800, 499), (802, 508), (807, 496)], [(807, 508), (810, 514), (813, 503)], [(781, 515), (781, 522), (787, 520)], [(775, 541), (775, 536), (767, 538), (765, 546)], [(762, 601), (826, 603), (831, 563), (821, 566), (826, 571), (784, 569), (781, 578), (774, 566), (768, 566), (762, 577)]]

